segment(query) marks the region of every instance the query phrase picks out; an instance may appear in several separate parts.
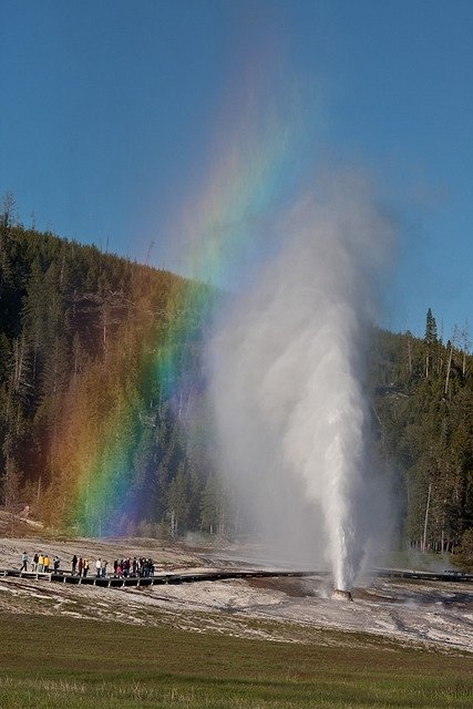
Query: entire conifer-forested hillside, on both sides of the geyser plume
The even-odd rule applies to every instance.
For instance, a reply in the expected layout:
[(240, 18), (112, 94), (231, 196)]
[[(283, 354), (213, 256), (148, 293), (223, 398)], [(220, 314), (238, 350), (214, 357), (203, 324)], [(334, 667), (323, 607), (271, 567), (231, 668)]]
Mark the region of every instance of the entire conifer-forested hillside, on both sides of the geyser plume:
[[(235, 531), (209, 454), (202, 354), (218, 295), (0, 215), (0, 495), (84, 534)], [(473, 526), (467, 333), (377, 331), (370, 387), (404, 542)]]

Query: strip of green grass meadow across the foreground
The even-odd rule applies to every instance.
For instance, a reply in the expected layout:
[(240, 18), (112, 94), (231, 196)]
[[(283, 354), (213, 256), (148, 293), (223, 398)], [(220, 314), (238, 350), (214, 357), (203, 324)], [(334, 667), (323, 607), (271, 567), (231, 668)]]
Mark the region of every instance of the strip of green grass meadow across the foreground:
[(471, 655), (338, 631), (298, 644), (54, 616), (0, 623), (2, 709), (466, 709), (472, 667)]

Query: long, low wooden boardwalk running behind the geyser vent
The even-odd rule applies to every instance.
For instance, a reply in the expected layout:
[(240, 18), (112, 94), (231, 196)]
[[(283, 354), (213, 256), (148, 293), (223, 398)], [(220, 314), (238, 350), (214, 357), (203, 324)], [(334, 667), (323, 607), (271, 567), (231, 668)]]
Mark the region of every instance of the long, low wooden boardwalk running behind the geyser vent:
[[(372, 574), (381, 578), (407, 578), (415, 580), (436, 582), (464, 582), (472, 583), (473, 574), (462, 574), (460, 572), (415, 572), (395, 568), (373, 569)], [(210, 572), (188, 572), (188, 573), (158, 573), (153, 576), (79, 576), (69, 572), (20, 572), (16, 568), (0, 569), (0, 577), (13, 576), (17, 578), (28, 578), (32, 580), (49, 580), (60, 584), (100, 586), (105, 588), (123, 588), (126, 586), (157, 586), (163, 584), (189, 584), (204, 580), (225, 580), (229, 578), (327, 578), (330, 572), (323, 571), (210, 571)]]

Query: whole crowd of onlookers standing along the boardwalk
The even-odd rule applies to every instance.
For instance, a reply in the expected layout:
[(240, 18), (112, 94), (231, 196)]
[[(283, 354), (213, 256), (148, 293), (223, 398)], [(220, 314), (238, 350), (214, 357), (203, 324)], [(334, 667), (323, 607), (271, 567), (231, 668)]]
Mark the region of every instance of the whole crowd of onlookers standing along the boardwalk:
[[(27, 552), (21, 555), (21, 572), (28, 571), (29, 556)], [(34, 554), (31, 562), (31, 571), (38, 574), (59, 572), (61, 561), (59, 556), (53, 556), (52, 559), (48, 554), (39, 552)], [(90, 559), (85, 556), (73, 555), (71, 559), (71, 574), (72, 576), (81, 576), (85, 578), (90, 571)], [(95, 576), (97, 578), (105, 578), (107, 575), (109, 562), (104, 558), (97, 558), (95, 562)], [(134, 556), (115, 559), (113, 562), (113, 575), (114, 577), (122, 578), (128, 576), (150, 577), (154, 576), (154, 562), (152, 558), (145, 558), (144, 556)]]

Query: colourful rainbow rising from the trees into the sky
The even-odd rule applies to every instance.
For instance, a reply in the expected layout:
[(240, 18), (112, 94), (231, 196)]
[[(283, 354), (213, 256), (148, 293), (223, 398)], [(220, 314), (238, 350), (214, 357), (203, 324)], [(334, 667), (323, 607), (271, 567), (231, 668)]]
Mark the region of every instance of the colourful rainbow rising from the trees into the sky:
[[(257, 268), (268, 248), (261, 225), (281, 203), (298, 140), (297, 111), (284, 120), (277, 111), (261, 111), (257, 93), (250, 82), (247, 100), (238, 100), (245, 109), (232, 105), (222, 113), (218, 125), (226, 127), (224, 135), (216, 129), (208, 176), (171, 225), (184, 256), (182, 274), (191, 280), (161, 273), (171, 288), (157, 321), (150, 316), (157, 296), (153, 286), (146, 290), (152, 278), (143, 267), (133, 319), (120, 326), (106, 358), (71, 382), (45, 495), (58, 526), (102, 536), (132, 532), (160, 504), (160, 481), (168, 474), (160, 455), (146, 459), (150, 436), (164, 440), (169, 417), (183, 435), (195, 428), (192, 401), (202, 386), (199, 373), (187, 369), (189, 351), (209, 318), (215, 287), (240, 287), (248, 264)], [(157, 470), (153, 480), (150, 466)]]

